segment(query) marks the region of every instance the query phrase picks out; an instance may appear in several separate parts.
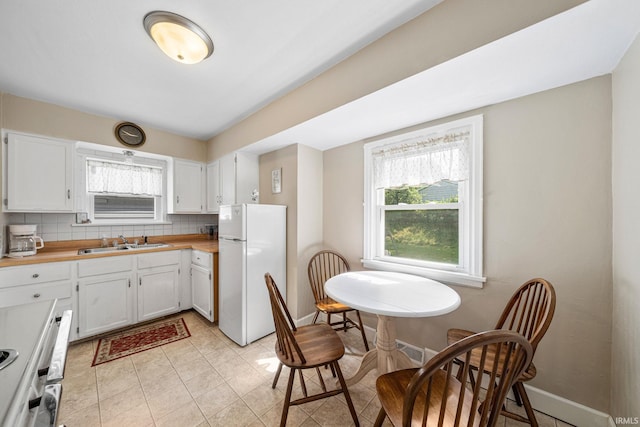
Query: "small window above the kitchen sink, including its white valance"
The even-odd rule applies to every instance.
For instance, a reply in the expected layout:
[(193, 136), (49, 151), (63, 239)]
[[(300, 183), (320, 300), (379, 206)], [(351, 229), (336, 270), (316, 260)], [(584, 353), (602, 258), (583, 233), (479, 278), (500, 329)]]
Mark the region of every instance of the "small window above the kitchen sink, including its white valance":
[(162, 220), (162, 167), (88, 158), (86, 182), (93, 222)]

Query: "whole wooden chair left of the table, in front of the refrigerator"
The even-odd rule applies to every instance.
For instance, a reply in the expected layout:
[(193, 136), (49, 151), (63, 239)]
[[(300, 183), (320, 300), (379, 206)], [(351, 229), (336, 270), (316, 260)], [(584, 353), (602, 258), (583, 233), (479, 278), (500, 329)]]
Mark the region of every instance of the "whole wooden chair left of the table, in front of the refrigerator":
[[(344, 394), (349, 412), (353, 418), (353, 422), (356, 426), (359, 426), (358, 416), (356, 410), (353, 407), (347, 384), (344, 381), (344, 376), (340, 370), (338, 360), (344, 356), (344, 344), (336, 331), (326, 323), (317, 323), (314, 325), (306, 325), (296, 327), (293, 318), (289, 314), (287, 305), (273, 280), (273, 277), (269, 273), (264, 275), (267, 289), (269, 291), (269, 299), (271, 301), (271, 311), (273, 312), (273, 321), (276, 327), (276, 355), (280, 360), (280, 366), (285, 365), (290, 369), (289, 382), (287, 383), (287, 391), (284, 398), (284, 406), (282, 408), (282, 417), (280, 418), (280, 426), (284, 427), (287, 423), (287, 415), (289, 413), (289, 407), (292, 405), (300, 405), (307, 402), (312, 402), (318, 399), (324, 399), (325, 397), (336, 396), (340, 393)], [(318, 369), (321, 366), (329, 365), (332, 372), (338, 376), (340, 388), (327, 390), (322, 375)], [(307, 395), (306, 387), (304, 386), (304, 379), (301, 374), (304, 369), (315, 369), (322, 392), (314, 394), (312, 396)], [(279, 374), (280, 368), (278, 369)], [(295, 373), (300, 373), (301, 385), (303, 388), (304, 397), (291, 400), (291, 394), (293, 389), (293, 380)], [(272, 388), (275, 388), (277, 377), (272, 384)]]

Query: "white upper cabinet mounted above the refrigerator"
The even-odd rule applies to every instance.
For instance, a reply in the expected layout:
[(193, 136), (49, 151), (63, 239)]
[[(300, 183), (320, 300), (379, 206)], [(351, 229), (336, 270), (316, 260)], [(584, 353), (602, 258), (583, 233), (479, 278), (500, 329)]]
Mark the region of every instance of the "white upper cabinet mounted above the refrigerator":
[(231, 153), (207, 165), (207, 211), (220, 205), (258, 203), (258, 156)]

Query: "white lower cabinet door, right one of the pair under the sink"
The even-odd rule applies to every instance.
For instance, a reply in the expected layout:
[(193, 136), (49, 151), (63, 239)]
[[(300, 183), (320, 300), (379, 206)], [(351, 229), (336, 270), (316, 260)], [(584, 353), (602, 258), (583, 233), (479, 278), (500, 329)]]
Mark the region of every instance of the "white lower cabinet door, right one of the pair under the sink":
[(138, 322), (180, 311), (178, 268), (138, 270)]

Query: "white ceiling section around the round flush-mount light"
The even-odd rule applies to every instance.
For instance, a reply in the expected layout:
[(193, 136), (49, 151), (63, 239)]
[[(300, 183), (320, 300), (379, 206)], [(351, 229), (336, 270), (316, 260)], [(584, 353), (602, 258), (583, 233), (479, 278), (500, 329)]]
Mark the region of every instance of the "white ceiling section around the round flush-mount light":
[[(0, 0), (0, 91), (209, 139), (442, 0)], [(211, 36), (167, 58), (143, 17)]]

